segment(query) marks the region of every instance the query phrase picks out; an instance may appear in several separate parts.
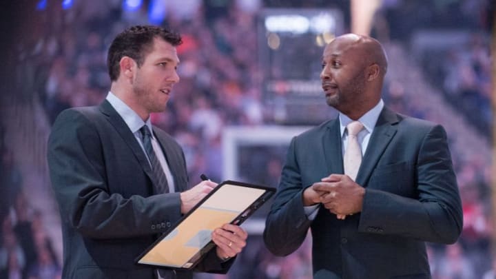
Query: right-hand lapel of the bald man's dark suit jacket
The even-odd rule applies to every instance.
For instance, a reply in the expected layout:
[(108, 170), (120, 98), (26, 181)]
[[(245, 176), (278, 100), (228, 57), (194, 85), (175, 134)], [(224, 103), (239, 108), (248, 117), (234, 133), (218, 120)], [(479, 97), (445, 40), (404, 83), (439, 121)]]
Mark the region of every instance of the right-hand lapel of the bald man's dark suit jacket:
[(384, 150), (397, 132), (397, 126), (395, 125), (397, 122), (397, 115), (387, 107), (384, 107), (375, 124), (369, 145), (362, 160), (362, 165), (360, 165), (358, 171), (356, 182), (359, 185), (366, 185), (375, 165), (377, 165), (382, 154), (384, 154)]

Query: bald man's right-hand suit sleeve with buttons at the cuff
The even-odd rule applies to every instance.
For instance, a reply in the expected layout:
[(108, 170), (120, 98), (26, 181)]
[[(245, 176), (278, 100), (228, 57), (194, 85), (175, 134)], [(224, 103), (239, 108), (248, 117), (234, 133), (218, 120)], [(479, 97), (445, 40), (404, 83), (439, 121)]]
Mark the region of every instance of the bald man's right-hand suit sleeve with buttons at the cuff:
[(424, 136), (415, 180), (417, 198), (366, 188), (358, 230), (428, 242), (455, 242), (463, 226), (462, 203), (446, 132), (440, 125)]

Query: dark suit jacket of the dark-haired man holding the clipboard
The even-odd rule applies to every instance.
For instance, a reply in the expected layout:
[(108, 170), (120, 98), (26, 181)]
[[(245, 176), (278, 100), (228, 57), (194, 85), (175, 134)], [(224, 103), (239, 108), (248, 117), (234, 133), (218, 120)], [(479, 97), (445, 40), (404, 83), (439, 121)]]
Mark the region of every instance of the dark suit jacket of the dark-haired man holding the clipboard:
[[(174, 174), (176, 193), (154, 194), (147, 158), (112, 105), (65, 110), (48, 140), (52, 187), (63, 233), (63, 278), (155, 278), (134, 259), (181, 217), (188, 187), (182, 149), (154, 127)], [(198, 270), (225, 273), (212, 250)], [(169, 272), (170, 278), (191, 273)]]

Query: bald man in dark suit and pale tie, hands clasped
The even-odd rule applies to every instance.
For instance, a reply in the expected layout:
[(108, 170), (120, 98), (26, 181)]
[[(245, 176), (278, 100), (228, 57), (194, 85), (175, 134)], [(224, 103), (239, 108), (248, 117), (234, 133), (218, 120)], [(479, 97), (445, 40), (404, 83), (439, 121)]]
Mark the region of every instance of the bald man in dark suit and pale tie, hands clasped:
[[(375, 39), (335, 38), (320, 79), (339, 116), (291, 141), (264, 239), (287, 256), (311, 229), (313, 278), (431, 278), (425, 242), (462, 231), (446, 132), (384, 105), (386, 70)], [(360, 157), (354, 172), (347, 152)]]

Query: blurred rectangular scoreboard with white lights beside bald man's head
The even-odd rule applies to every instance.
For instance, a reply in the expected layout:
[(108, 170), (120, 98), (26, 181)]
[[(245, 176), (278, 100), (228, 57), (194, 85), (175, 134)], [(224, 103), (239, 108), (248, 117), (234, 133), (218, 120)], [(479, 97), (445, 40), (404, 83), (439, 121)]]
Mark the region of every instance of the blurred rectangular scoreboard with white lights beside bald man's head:
[(257, 25), (268, 122), (315, 125), (335, 115), (325, 103), (319, 76), (324, 46), (343, 33), (342, 12), (265, 9)]

